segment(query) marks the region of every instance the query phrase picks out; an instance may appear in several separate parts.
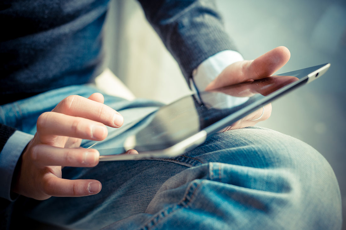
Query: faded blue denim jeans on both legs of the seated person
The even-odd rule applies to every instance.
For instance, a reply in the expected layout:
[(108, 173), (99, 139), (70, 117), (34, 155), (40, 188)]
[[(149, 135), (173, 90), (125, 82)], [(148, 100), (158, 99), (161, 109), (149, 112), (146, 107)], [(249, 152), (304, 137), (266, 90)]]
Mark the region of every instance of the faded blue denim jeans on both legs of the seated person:
[[(41, 113), (66, 96), (88, 97), (97, 91), (92, 86), (68, 86), (2, 106), (0, 115), (6, 125), (34, 134)], [(105, 104), (123, 114), (124, 127), (135, 128), (160, 106), (104, 96)], [(116, 131), (110, 128), (109, 136)], [(119, 145), (116, 137), (113, 144)], [(82, 142), (82, 147), (88, 146), (90, 141)], [(62, 175), (97, 179), (102, 190), (45, 201), (20, 197), (16, 202), (21, 212), (75, 229), (341, 228), (340, 191), (324, 157), (300, 140), (265, 128), (218, 133), (172, 159), (65, 167)]]

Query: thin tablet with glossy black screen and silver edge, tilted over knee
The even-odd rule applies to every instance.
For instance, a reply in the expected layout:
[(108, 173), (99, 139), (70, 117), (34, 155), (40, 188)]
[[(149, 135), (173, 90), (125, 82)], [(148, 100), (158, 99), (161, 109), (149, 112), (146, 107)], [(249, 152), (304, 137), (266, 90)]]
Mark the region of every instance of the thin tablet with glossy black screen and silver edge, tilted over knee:
[[(247, 114), (317, 79), (329, 66), (327, 63), (218, 90), (195, 92), (152, 112), (137, 124), (135, 131), (113, 137), (121, 140), (121, 146), (102, 149), (99, 141), (92, 147), (100, 152), (100, 161), (175, 157)], [(123, 154), (128, 149), (136, 149), (139, 154)]]

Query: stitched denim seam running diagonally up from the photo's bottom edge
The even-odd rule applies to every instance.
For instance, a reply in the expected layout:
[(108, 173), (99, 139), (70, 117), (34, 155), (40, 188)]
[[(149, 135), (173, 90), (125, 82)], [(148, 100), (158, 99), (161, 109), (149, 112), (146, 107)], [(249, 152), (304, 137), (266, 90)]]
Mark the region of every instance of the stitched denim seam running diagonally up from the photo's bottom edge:
[[(168, 217), (170, 214), (174, 213), (175, 211), (177, 210), (180, 210), (182, 208), (185, 208), (186, 206), (189, 206), (189, 204), (193, 201), (193, 198), (194, 198), (194, 195), (195, 193), (198, 191), (198, 188), (201, 186), (201, 184), (203, 184), (204, 181), (202, 181), (201, 183), (198, 183), (197, 182), (194, 182), (190, 185), (190, 187), (188, 188), (188, 190), (186, 190), (185, 194), (184, 194), (184, 197), (181, 201), (179, 201), (177, 204), (175, 204), (173, 207), (172, 205), (170, 205), (169, 207), (165, 208), (163, 211), (161, 211), (160, 213), (158, 214), (155, 214), (154, 217), (152, 217), (150, 220), (148, 220), (143, 227), (141, 227), (140, 229), (146, 229), (146, 230), (149, 230), (153, 227), (155, 227), (155, 225), (157, 223), (159, 223), (161, 220), (163, 220), (165, 217)], [(197, 184), (197, 186), (194, 187), (194, 185)], [(193, 192), (192, 192), (192, 191)], [(189, 197), (189, 194), (192, 192), (192, 195)], [(188, 198), (189, 197), (189, 198)], [(185, 200), (188, 199), (188, 202), (184, 204)], [(169, 211), (169, 209), (171, 209)], [(165, 214), (165, 212), (167, 212)], [(161, 216), (161, 218), (160, 218)], [(155, 221), (156, 219), (156, 221)], [(150, 226), (148, 226), (148, 224), (150, 224)]]

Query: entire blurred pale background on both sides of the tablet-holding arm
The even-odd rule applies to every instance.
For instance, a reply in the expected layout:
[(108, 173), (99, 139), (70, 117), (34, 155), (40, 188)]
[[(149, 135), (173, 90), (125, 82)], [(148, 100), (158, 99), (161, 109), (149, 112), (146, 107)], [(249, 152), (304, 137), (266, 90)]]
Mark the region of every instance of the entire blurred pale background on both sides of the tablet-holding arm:
[[(325, 156), (339, 182), (346, 230), (346, 2), (216, 2), (245, 59), (282, 45), (291, 59), (278, 73), (331, 63), (320, 79), (273, 102), (271, 118), (258, 125), (303, 140)], [(189, 93), (135, 0), (113, 0), (107, 17), (108, 66), (136, 97), (169, 103)]]

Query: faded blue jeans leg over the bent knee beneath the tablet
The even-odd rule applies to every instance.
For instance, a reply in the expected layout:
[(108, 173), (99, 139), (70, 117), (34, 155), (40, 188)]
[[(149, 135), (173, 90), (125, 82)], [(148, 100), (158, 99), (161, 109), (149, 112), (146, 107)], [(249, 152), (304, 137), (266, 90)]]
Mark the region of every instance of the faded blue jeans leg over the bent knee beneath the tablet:
[(174, 160), (144, 213), (105, 229), (340, 229), (333, 170), (309, 145), (248, 127), (216, 134)]

